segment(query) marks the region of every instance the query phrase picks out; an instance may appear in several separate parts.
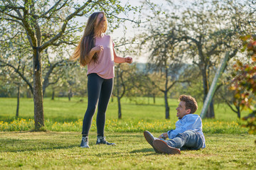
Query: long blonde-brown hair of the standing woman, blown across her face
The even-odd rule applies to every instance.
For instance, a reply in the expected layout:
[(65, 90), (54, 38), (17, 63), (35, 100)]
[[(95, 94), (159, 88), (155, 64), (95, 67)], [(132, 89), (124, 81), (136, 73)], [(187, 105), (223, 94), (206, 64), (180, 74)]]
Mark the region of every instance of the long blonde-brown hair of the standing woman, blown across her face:
[[(88, 64), (85, 59), (88, 57), (90, 50), (95, 47), (95, 28), (97, 28), (97, 26), (95, 26), (95, 23), (97, 21), (97, 16), (100, 13), (102, 13), (103, 18), (105, 18), (105, 27), (101, 31), (102, 33), (106, 32), (107, 18), (105, 16), (105, 13), (102, 11), (92, 13), (92, 15), (88, 18), (84, 34), (82, 35), (79, 45), (75, 48), (75, 52), (70, 57), (70, 60), (78, 60), (79, 58), (81, 67), (85, 67), (85, 65)], [(98, 24), (100, 24), (100, 22)], [(95, 55), (92, 57), (92, 60), (94, 62), (97, 62), (97, 53), (95, 53)]]

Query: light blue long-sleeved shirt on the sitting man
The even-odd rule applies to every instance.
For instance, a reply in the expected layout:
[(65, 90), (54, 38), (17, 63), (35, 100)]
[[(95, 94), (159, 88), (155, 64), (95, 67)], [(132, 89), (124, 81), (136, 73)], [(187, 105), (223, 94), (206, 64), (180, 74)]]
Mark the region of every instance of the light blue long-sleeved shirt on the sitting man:
[(202, 119), (199, 115), (188, 114), (176, 122), (176, 129), (167, 132), (169, 139), (173, 139), (178, 133), (185, 132), (186, 130), (195, 130), (203, 137), (203, 148), (206, 147), (206, 139), (203, 135)]

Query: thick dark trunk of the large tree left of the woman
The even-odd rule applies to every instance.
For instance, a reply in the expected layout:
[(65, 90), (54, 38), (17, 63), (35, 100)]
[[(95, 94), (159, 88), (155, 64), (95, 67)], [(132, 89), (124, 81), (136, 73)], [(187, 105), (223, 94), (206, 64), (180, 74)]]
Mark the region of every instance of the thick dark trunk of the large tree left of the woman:
[(44, 127), (43, 116), (43, 89), (42, 89), (42, 69), (41, 69), (41, 56), (38, 52), (39, 69), (36, 68), (36, 52), (33, 55), (33, 101), (34, 101), (34, 119), (35, 130), (40, 130)]

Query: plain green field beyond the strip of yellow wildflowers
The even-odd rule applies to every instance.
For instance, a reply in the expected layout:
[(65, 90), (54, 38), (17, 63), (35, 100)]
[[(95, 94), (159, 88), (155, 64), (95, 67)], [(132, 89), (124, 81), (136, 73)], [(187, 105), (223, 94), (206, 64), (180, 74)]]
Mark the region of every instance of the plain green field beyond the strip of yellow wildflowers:
[[(148, 98), (137, 98), (137, 103), (142, 104), (137, 105), (133, 101), (129, 101), (128, 98), (122, 99), (123, 120), (164, 120), (164, 98), (156, 98), (156, 104), (153, 103), (152, 98), (149, 101)], [(177, 99), (169, 99), (171, 122), (176, 122), (177, 120), (177, 105)], [(197, 114), (201, 113), (202, 105), (202, 103), (198, 103)], [(87, 98), (72, 98), (71, 101), (68, 101), (68, 98), (55, 98), (54, 101), (50, 100), (50, 98), (45, 98), (43, 106), (46, 120), (53, 120), (54, 122), (77, 121), (82, 119), (85, 114)], [(14, 120), (15, 114), (16, 98), (0, 98), (0, 120), (11, 122)], [(247, 111), (242, 112), (243, 115), (247, 115)], [(21, 98), (19, 118), (33, 119), (33, 98)], [(113, 120), (117, 118), (117, 101), (114, 98), (113, 102), (110, 101), (107, 109), (107, 119)], [(220, 104), (215, 105), (215, 118), (216, 120), (235, 121), (237, 120), (237, 115), (225, 104)]]

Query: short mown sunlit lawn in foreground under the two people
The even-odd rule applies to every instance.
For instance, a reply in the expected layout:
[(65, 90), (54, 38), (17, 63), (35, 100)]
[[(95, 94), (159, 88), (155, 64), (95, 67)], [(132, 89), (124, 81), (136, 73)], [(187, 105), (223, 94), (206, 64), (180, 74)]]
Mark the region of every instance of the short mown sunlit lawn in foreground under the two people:
[[(160, 135), (160, 133), (154, 133)], [(156, 154), (142, 132), (108, 132), (116, 146), (80, 148), (80, 132), (0, 132), (0, 169), (256, 169), (253, 135), (206, 134), (206, 149)]]

